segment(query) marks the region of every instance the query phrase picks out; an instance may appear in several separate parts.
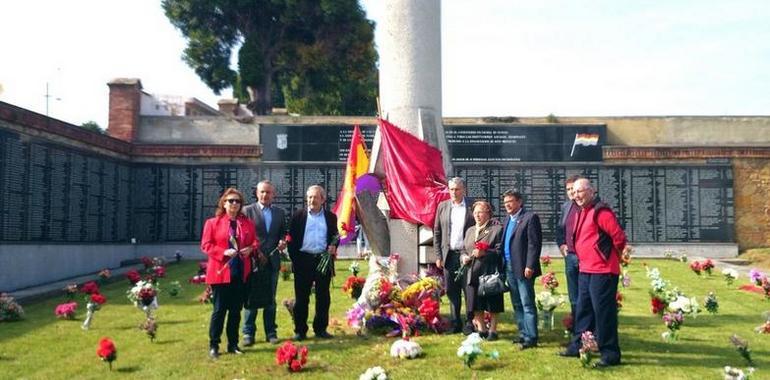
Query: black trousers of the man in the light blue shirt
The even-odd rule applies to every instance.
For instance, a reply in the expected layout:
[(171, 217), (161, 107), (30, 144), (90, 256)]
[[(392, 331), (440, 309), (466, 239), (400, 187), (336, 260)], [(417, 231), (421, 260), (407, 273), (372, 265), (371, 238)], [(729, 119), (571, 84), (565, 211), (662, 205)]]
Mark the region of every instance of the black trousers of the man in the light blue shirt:
[(318, 272), (318, 262), (321, 255), (299, 252), (292, 257), (294, 269), (294, 295), (297, 300), (294, 304), (294, 332), (299, 335), (307, 335), (307, 318), (310, 304), (310, 290), (315, 283), (315, 316), (313, 317), (313, 332), (316, 334), (326, 332), (329, 325), (329, 305), (331, 295), (329, 284), (334, 262), (330, 262), (329, 271), (322, 275)]

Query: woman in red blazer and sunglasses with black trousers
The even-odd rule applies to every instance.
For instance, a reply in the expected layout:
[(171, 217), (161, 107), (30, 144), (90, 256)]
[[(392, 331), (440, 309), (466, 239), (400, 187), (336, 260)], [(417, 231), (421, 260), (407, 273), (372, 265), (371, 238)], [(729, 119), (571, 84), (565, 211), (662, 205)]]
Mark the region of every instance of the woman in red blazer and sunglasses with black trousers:
[(258, 241), (254, 223), (241, 213), (243, 194), (235, 188), (222, 193), (213, 218), (206, 220), (201, 250), (209, 257), (206, 283), (211, 285), (214, 311), (209, 324), (209, 356), (219, 357), (219, 342), (227, 315), (227, 352), (242, 354), (238, 348), (238, 325), (251, 273), (249, 256)]

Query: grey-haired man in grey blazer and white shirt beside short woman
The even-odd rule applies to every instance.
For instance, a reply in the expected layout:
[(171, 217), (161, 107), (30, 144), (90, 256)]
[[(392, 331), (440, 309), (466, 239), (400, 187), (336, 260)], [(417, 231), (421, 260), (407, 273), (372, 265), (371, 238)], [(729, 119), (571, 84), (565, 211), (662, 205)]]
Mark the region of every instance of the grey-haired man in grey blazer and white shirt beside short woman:
[[(462, 279), (455, 281), (460, 269), (460, 251), (463, 249), (465, 231), (475, 224), (471, 202), (465, 199), (465, 183), (462, 178), (449, 180), (449, 197), (438, 204), (436, 219), (433, 223), (433, 247), (436, 250), (436, 266), (444, 268), (446, 295), (451, 304), (451, 320), (454, 333), (463, 331), (460, 314), (462, 307), (461, 292), (465, 285)], [(466, 310), (466, 313), (470, 311)], [(467, 319), (466, 319), (467, 320)], [(465, 332), (473, 332), (473, 325), (468, 320)]]

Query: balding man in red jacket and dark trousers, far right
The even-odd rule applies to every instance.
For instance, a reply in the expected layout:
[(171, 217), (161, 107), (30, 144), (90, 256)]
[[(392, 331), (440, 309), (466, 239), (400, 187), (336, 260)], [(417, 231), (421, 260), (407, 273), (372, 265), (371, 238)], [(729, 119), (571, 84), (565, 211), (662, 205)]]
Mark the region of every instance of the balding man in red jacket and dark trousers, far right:
[(578, 356), (581, 335), (591, 331), (601, 353), (601, 360), (595, 365), (618, 365), (620, 345), (615, 294), (620, 275), (620, 255), (628, 255), (631, 248), (615, 213), (599, 200), (591, 182), (580, 178), (572, 186), (575, 203), (580, 207), (574, 225), (580, 274), (575, 336), (560, 355)]

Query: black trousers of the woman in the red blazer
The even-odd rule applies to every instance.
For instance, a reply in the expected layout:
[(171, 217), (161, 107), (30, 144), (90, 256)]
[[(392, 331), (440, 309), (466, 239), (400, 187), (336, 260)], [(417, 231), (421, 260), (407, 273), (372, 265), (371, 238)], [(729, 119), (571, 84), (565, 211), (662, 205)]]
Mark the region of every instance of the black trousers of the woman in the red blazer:
[(238, 325), (241, 323), (241, 309), (245, 296), (243, 283), (236, 279), (229, 284), (211, 285), (214, 296), (214, 310), (209, 324), (209, 347), (219, 348), (222, 329), (227, 317), (227, 348), (238, 346)]

